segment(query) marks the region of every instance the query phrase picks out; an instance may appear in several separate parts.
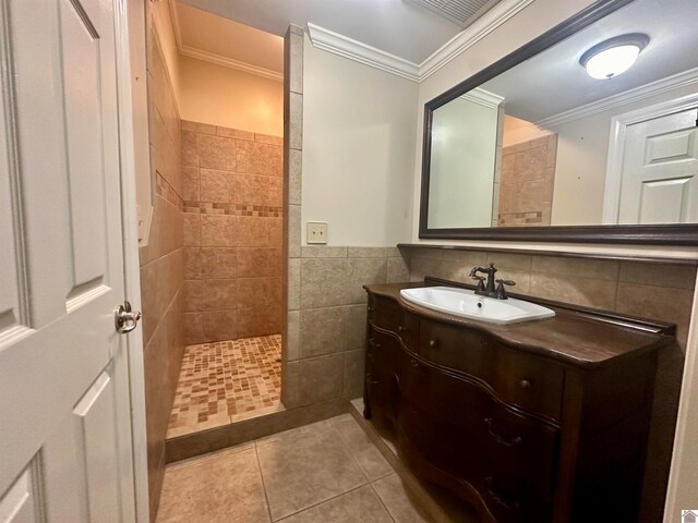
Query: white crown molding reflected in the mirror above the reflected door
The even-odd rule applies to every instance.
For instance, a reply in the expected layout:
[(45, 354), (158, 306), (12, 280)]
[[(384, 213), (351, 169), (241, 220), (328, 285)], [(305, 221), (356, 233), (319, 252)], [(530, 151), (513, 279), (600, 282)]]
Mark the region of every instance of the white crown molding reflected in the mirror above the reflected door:
[(534, 123), (541, 129), (555, 129), (561, 125), (581, 120), (582, 118), (607, 111), (609, 109), (614, 109), (634, 101), (642, 100), (650, 96), (661, 95), (662, 93), (667, 93), (693, 84), (698, 84), (698, 68), (689, 69), (683, 73), (674, 74), (673, 76), (667, 76), (665, 78), (641, 85), (640, 87), (626, 90), (625, 93), (619, 93), (585, 106), (576, 107), (568, 111), (563, 111)]

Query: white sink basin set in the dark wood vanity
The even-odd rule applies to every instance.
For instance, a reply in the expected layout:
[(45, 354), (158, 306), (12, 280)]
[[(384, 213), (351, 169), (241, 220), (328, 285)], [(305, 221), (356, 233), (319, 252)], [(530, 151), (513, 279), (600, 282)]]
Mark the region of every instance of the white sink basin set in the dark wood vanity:
[(532, 319), (552, 318), (555, 311), (534, 303), (509, 297), (479, 296), (476, 291), (453, 287), (420, 287), (402, 289), (402, 299), (442, 313), (479, 319), (490, 324), (509, 325)]

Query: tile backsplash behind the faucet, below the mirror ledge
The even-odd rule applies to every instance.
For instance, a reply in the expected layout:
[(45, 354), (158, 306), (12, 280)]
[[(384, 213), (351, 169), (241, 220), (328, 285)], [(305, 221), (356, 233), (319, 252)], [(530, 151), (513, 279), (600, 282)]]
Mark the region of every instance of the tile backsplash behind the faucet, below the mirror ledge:
[(582, 257), (406, 248), (410, 279), (435, 276), (470, 283), (470, 269), (494, 263), (497, 278), (516, 281), (512, 292), (676, 324), (686, 348), (696, 284), (693, 265)]

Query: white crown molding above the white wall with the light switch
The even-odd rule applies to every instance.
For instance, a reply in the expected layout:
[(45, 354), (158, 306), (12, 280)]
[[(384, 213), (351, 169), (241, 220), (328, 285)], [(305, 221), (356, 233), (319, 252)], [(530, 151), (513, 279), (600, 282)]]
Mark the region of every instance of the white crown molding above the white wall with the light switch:
[(308, 23), (308, 34), (313, 47), (323, 49), (354, 62), (370, 65), (381, 71), (401, 76), (412, 82), (419, 82), (419, 65), (409, 60), (382, 51), (375, 47), (366, 46), (361, 41), (334, 33)]

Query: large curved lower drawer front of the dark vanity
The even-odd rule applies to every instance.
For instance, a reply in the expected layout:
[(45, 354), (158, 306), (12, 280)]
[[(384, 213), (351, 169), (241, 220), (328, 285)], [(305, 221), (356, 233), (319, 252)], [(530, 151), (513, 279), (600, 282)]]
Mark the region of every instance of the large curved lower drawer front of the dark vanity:
[(485, 388), (409, 358), (402, 437), (446, 474), (476, 486), (501, 522), (550, 521), (558, 429)]

